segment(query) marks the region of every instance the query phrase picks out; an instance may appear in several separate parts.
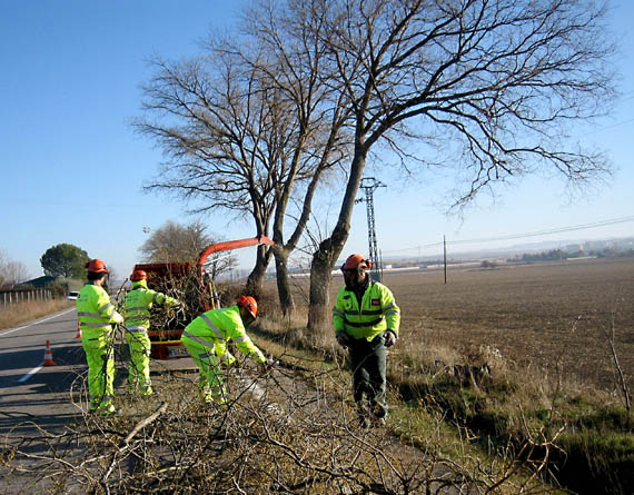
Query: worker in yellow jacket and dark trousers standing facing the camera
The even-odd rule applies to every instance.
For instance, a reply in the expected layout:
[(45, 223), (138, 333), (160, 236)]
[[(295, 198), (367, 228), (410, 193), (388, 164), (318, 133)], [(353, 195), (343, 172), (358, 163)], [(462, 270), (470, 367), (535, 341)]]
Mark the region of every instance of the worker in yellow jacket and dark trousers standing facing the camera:
[(353, 395), (363, 426), (385, 424), (387, 347), (396, 344), (400, 309), (383, 284), (370, 280), (366, 269), (372, 261), (361, 255), (349, 256), (341, 271), (345, 287), (333, 308), (335, 336), (348, 348), (353, 369)]

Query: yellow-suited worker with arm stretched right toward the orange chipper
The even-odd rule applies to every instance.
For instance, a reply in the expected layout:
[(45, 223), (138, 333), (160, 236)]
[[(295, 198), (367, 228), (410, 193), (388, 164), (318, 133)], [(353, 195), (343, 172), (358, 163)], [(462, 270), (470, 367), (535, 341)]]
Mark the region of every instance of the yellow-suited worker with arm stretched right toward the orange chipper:
[(174, 297), (148, 288), (148, 274), (133, 270), (130, 275), (131, 290), (126, 295), (126, 341), (130, 349), (128, 368), (128, 393), (139, 392), (141, 396), (152, 395), (150, 379), (150, 309), (157, 305), (165, 308), (178, 306)]

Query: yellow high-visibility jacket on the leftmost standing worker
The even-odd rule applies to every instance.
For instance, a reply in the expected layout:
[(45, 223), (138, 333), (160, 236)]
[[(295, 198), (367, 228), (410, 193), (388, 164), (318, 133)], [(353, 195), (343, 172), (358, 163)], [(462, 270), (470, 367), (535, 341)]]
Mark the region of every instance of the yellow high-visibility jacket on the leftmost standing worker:
[(85, 338), (100, 337), (112, 330), (111, 324), (123, 323), (110, 296), (101, 286), (86, 284), (77, 296), (77, 319)]

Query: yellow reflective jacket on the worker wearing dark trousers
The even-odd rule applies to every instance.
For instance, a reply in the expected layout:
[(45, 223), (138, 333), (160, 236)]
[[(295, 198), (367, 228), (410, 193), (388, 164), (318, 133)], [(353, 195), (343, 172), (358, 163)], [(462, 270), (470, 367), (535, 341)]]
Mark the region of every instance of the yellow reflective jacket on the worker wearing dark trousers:
[(333, 308), (335, 333), (345, 330), (354, 338), (368, 341), (386, 329), (398, 335), (400, 309), (392, 290), (377, 281), (369, 281), (361, 298), (361, 305), (354, 291), (341, 287)]

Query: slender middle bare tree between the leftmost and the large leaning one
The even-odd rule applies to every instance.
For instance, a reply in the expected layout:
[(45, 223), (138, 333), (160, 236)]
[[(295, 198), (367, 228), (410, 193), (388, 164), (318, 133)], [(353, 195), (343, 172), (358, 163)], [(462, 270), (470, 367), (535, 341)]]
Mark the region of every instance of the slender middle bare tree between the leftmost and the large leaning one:
[[(317, 188), (324, 174), (350, 156), (351, 136), (346, 129), (350, 109), (343, 105), (345, 95), (334, 90), (330, 83), (334, 72), (327, 72), (324, 44), (318, 38), (305, 36), (324, 21), (320, 13), (325, 12), (314, 10), (311, 16), (303, 16), (293, 6), (254, 2), (244, 16), (244, 39), (250, 40), (257, 50), (245, 49), (244, 39), (227, 48), (228, 55), (264, 75), (268, 85), (285, 99), (296, 129), (285, 142), (288, 174), (276, 185), (278, 201), (273, 225), (278, 296), (285, 315), (295, 307), (288, 259), (306, 234)], [(288, 30), (289, 17), (309, 26)], [(294, 202), (295, 214), (289, 211), (290, 202)], [(286, 224), (289, 218), (290, 227)], [(288, 237), (285, 237), (286, 229)]]

